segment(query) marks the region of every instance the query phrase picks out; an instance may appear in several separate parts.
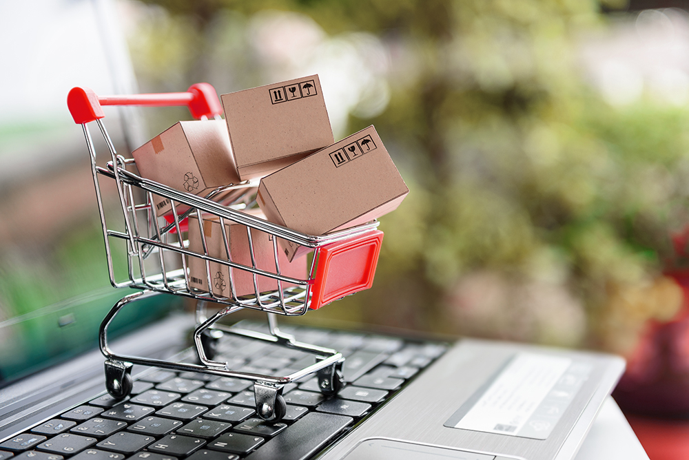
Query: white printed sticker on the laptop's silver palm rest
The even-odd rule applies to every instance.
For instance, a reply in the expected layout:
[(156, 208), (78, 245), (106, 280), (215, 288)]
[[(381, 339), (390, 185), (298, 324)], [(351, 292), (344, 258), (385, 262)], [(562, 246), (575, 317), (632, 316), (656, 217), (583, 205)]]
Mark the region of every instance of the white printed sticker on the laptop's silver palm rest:
[(546, 439), (591, 370), (566, 357), (519, 353), (445, 426)]

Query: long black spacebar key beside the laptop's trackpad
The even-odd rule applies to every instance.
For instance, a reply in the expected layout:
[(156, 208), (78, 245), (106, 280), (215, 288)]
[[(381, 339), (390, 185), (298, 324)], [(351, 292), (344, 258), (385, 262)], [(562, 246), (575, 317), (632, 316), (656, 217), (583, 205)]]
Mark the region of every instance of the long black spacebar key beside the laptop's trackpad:
[(303, 460), (316, 454), (342, 429), (351, 417), (310, 412), (287, 430), (260, 446), (246, 460)]

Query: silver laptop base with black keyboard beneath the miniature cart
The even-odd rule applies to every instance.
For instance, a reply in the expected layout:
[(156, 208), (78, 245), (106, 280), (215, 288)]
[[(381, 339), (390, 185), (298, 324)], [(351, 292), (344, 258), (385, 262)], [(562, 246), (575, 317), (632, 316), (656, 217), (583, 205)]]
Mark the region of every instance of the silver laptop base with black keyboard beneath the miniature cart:
[[(193, 362), (186, 344), (194, 317), (171, 300), (154, 296), (146, 308), (171, 313), (141, 320), (148, 324), (112, 348)], [(41, 313), (46, 327), (60, 327), (53, 311)], [(4, 337), (22, 326), (8, 323)], [(256, 318), (232, 327), (267, 331)], [(251, 381), (135, 366), (132, 394), (117, 401), (105, 392), (103, 357), (94, 350), (0, 390), (0, 458), (573, 459), (624, 370), (619, 357), (526, 344), (420, 340), (298, 321), (280, 330), (342, 351), (346, 384), (337, 395), (324, 397), (318, 379), (307, 376), (284, 388), (285, 417), (265, 422)], [(313, 355), (232, 333), (217, 349), (218, 359), (255, 373), (313, 364)]]

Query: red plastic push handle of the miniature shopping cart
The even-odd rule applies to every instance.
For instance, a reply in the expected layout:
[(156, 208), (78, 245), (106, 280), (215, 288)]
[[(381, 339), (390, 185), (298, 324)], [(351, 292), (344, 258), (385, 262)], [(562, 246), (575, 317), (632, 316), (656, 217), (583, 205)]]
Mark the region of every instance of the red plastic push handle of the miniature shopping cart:
[(74, 87), (67, 96), (74, 123), (81, 125), (103, 118), (102, 105), (145, 105), (147, 107), (165, 107), (186, 105), (197, 120), (213, 118), (223, 113), (218, 94), (209, 83), (196, 83), (183, 93), (132, 94), (126, 96), (96, 96), (88, 87)]

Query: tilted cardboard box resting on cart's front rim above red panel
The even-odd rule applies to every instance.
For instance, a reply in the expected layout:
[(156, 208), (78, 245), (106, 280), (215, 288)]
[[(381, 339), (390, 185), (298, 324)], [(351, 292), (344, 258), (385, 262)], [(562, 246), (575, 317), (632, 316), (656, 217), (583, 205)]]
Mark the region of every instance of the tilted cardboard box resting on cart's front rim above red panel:
[[(407, 194), (376, 129), (369, 126), (263, 178), (256, 202), (270, 222), (318, 236), (389, 213)], [(298, 244), (279, 242), (289, 260), (302, 253)]]

